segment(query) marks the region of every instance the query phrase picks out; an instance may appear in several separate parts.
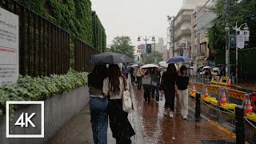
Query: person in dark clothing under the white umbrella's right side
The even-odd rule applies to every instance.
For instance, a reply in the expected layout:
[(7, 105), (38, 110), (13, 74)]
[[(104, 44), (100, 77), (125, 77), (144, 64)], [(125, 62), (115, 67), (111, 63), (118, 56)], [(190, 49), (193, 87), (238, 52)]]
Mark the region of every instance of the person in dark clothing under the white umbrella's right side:
[(156, 94), (155, 100), (156, 102), (159, 102), (159, 86), (160, 86), (160, 72), (157, 68), (153, 68), (152, 74), (151, 74), (151, 83), (152, 83), (152, 91), (151, 96), (154, 98), (154, 94)]

